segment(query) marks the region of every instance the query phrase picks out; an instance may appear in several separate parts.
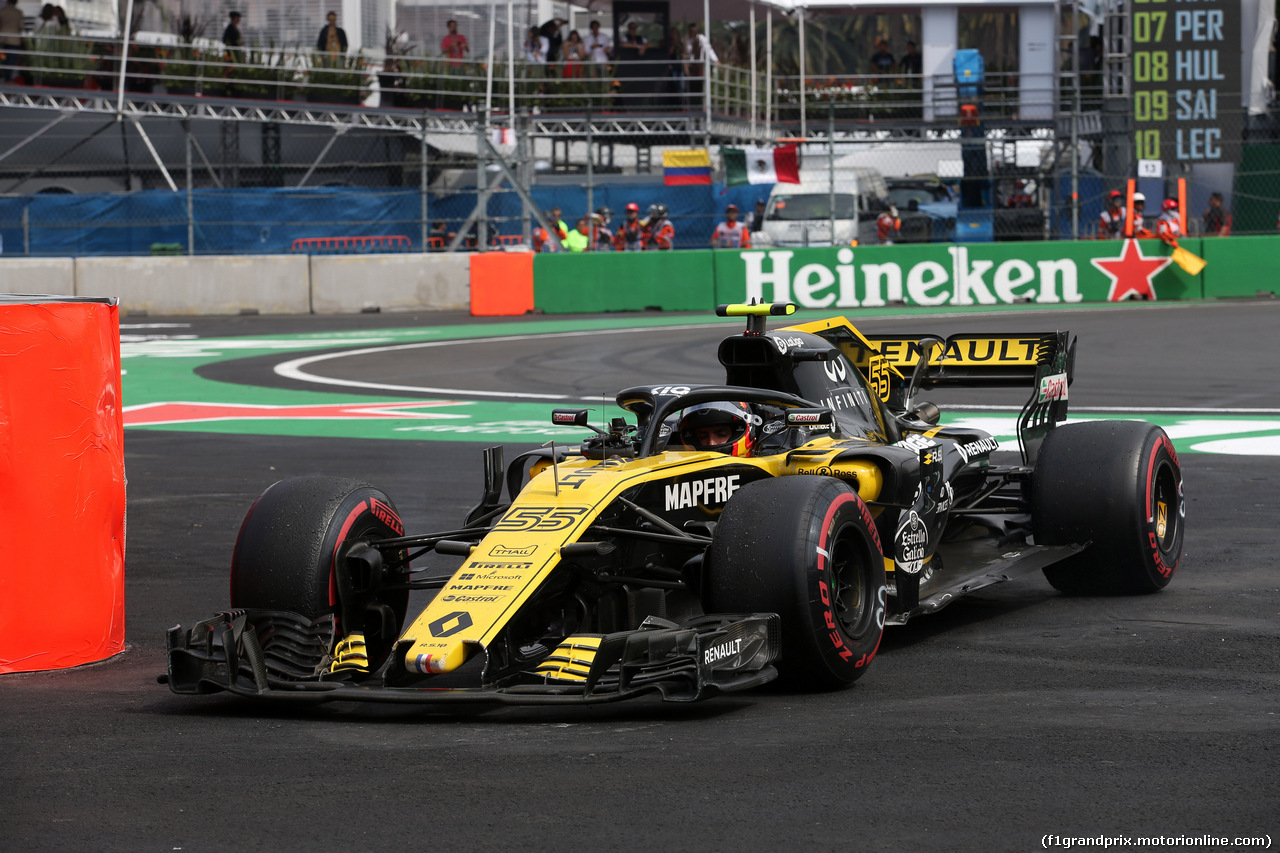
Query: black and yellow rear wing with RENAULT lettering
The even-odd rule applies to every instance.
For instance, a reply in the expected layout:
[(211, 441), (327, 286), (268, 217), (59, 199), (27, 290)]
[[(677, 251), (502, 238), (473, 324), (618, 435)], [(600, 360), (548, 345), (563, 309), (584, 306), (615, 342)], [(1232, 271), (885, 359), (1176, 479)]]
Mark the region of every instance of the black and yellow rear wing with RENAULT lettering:
[(1048, 430), (1066, 420), (1075, 364), (1075, 341), (1068, 332), (864, 334), (846, 318), (790, 328), (819, 334), (837, 347), (896, 414), (929, 388), (1029, 388), (1018, 419), (1027, 465), (1034, 464)]

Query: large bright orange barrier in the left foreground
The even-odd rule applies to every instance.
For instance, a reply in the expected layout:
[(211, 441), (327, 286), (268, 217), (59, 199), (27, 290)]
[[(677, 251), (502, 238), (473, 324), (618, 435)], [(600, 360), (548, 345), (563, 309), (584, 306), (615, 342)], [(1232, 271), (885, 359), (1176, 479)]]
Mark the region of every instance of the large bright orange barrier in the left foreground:
[(0, 672), (124, 648), (124, 426), (114, 298), (0, 297)]

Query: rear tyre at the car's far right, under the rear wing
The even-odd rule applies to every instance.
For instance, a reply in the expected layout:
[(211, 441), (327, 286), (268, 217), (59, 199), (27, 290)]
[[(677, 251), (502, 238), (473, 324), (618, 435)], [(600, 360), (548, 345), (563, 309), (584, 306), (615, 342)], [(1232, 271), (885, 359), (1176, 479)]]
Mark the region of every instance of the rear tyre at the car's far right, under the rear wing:
[(1160, 426), (1132, 420), (1050, 432), (1032, 479), (1037, 544), (1091, 543), (1044, 569), (1069, 594), (1152, 593), (1183, 555), (1183, 471)]

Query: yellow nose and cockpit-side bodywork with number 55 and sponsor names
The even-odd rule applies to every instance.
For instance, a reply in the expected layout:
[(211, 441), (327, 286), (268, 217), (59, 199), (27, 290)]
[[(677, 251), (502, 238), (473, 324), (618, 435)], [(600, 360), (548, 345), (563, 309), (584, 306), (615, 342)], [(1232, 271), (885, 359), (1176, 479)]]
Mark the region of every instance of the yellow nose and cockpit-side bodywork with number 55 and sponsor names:
[[(746, 465), (772, 476), (837, 476), (854, 485), (863, 500), (873, 501), (882, 487), (876, 465), (860, 460), (832, 464), (832, 457), (841, 451), (863, 444), (861, 439), (819, 438), (797, 448), (800, 453), (791, 451), (758, 459), (668, 451), (648, 459), (596, 461), (575, 457), (544, 467), (403, 634), (402, 640), (412, 642), (404, 666), (424, 675), (449, 672), (494, 642), (559, 564), (561, 547), (590, 540), (584, 535), (588, 528), (627, 489), (686, 474), (705, 475), (710, 482), (721, 469), (741, 470)], [(792, 456), (791, 464), (788, 456)], [(708, 496), (714, 494), (710, 487), (708, 489)], [(717, 497), (727, 500), (728, 494), (731, 492), (721, 492)], [(566, 643), (581, 644), (585, 639), (576, 637)], [(562, 657), (570, 662), (556, 670), (557, 678), (581, 671), (579, 660), (586, 660), (590, 666), (580, 648)]]

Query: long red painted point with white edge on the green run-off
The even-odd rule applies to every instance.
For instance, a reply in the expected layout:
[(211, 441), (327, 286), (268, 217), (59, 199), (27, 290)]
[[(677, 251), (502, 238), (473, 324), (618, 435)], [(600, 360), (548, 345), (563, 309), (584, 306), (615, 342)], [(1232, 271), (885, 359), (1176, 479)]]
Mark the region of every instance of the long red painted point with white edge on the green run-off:
[(250, 403), (161, 402), (129, 406), (125, 426), (189, 424), (209, 420), (381, 420), (385, 418), (465, 418), (443, 412), (407, 411), (435, 406), (465, 405), (440, 400), (430, 402), (329, 403), (317, 406), (256, 406)]

